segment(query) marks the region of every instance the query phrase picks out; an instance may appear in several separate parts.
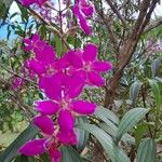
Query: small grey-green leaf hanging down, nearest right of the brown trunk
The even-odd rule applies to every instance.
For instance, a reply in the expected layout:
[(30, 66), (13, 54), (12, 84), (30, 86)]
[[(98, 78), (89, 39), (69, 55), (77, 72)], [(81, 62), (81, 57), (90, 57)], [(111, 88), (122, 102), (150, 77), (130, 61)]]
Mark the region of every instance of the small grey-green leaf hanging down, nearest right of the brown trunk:
[(130, 100), (133, 105), (135, 105), (141, 83), (139, 81), (135, 81), (130, 87)]

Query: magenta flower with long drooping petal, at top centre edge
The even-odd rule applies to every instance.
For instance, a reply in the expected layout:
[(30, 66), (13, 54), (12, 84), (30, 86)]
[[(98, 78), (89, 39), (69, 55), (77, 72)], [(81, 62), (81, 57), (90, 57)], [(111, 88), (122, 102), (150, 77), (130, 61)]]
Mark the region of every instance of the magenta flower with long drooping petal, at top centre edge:
[(73, 14), (78, 17), (79, 24), (86, 35), (92, 33), (92, 27), (86, 21), (86, 17), (93, 15), (93, 6), (87, 4), (85, 0), (79, 0), (73, 6)]

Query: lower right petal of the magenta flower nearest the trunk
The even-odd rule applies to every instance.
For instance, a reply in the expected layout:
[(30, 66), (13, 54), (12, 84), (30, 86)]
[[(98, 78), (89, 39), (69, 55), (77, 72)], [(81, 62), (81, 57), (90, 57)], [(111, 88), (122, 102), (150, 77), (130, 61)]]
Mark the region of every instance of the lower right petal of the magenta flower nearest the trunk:
[(89, 72), (87, 78), (90, 84), (97, 86), (103, 86), (105, 84), (105, 80), (99, 76), (98, 72)]

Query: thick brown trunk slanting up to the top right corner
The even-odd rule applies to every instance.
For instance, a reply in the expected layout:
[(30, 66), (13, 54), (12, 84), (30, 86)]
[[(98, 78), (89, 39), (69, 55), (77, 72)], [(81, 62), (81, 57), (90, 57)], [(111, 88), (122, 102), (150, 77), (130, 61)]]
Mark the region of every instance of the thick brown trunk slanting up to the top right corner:
[(120, 48), (119, 66), (113, 77), (110, 79), (109, 84), (106, 89), (106, 96), (104, 104), (105, 107), (108, 107), (113, 103), (116, 90), (118, 89), (119, 81), (122, 77), (123, 70), (130, 63), (136, 49), (136, 45), (139, 41), (139, 38), (143, 35), (145, 27), (149, 23), (151, 14), (157, 3), (158, 0), (143, 0), (139, 6), (139, 15), (135, 23), (135, 26), (131, 31), (127, 32), (127, 38), (123, 42), (123, 45)]

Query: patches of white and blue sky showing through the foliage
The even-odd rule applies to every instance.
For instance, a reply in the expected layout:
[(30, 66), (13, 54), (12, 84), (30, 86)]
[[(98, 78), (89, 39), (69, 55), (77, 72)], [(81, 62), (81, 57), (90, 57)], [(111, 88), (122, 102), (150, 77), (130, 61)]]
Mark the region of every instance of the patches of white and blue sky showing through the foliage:
[[(57, 4), (56, 4), (56, 5), (57, 5)], [(56, 5), (55, 5), (55, 6), (56, 6)], [(12, 15), (12, 14), (15, 13), (15, 12), (21, 13), (21, 11), (19, 11), (19, 9), (18, 9), (16, 2), (13, 2), (12, 5), (11, 5), (11, 8), (10, 8), (10, 10), (9, 10), (9, 13), (10, 13), (10, 15)], [(156, 10), (154, 10), (154, 13), (152, 14), (152, 18), (154, 18), (156, 15), (157, 15), (157, 16), (162, 16), (162, 4), (160, 4), (160, 5), (158, 4), (158, 5), (157, 5), (157, 8), (156, 8)], [(12, 18), (13, 22), (14, 22), (15, 19), (18, 21), (19, 18), (18, 18), (17, 16), (15, 16), (14, 18)], [(21, 21), (21, 19), (19, 19), (19, 21)], [(5, 39), (5, 38), (6, 38), (6, 33), (8, 33), (6, 26), (1, 27), (1, 28), (0, 28), (0, 39)], [(14, 35), (14, 32), (12, 32), (11, 37), (12, 37), (12, 38), (15, 38), (16, 35)]]

